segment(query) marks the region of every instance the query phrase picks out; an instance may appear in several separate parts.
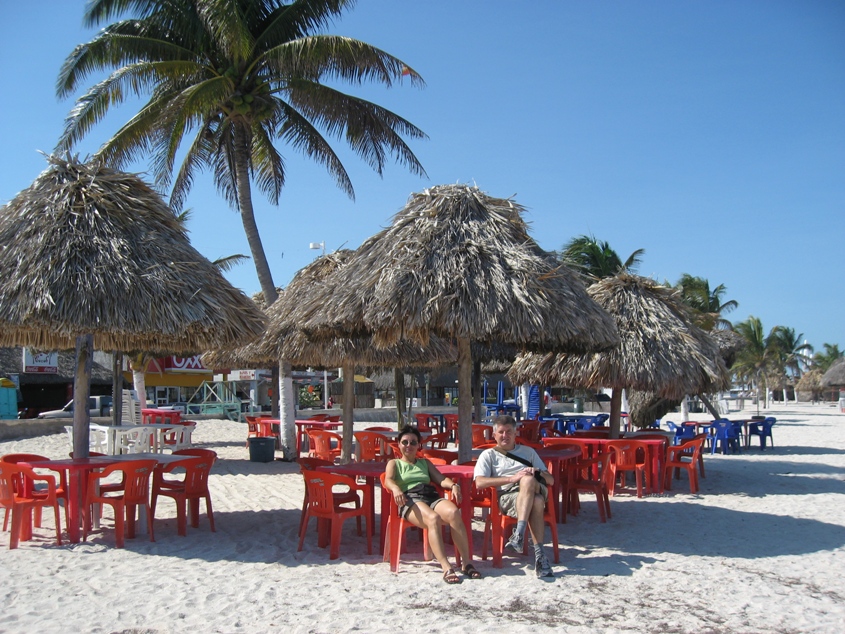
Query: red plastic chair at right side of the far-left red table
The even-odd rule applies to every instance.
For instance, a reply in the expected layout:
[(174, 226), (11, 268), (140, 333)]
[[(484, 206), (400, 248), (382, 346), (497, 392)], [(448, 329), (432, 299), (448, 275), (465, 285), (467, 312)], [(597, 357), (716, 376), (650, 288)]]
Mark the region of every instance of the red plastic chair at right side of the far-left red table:
[[(184, 460), (171, 462), (156, 470), (153, 475), (153, 494), (150, 502), (150, 514), (155, 517), (156, 502), (160, 495), (173, 498), (176, 502), (176, 531), (182, 537), (188, 534), (187, 510), (191, 509), (191, 526), (199, 527), (200, 500), (205, 500), (205, 513), (208, 525), (214, 533), (214, 511), (211, 508), (211, 492), (208, 490), (208, 475), (214, 459), (199, 456), (185, 456)], [(165, 478), (165, 474), (176, 469), (184, 469), (182, 479)]]

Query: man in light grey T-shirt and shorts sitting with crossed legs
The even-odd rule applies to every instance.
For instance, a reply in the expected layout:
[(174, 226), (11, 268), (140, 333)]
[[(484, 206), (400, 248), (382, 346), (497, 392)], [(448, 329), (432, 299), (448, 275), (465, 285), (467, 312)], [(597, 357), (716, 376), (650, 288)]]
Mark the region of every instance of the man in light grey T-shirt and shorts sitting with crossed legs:
[(553, 484), (554, 479), (536, 451), (516, 444), (513, 416), (496, 416), (493, 419), (493, 439), (496, 446), (485, 450), (475, 465), (475, 486), (479, 489), (497, 488), (499, 510), (517, 520), (507, 546), (521, 553), (527, 526), (534, 540), (534, 570), (537, 576), (554, 578), (552, 565), (543, 550), (543, 509), (548, 497), (547, 487)]

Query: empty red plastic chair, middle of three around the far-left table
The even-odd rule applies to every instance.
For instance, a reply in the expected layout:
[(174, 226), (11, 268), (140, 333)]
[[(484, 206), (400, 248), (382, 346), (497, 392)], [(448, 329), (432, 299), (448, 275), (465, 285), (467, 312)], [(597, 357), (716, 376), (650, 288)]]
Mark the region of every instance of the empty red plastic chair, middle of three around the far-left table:
[[(153, 531), (153, 513), (150, 506), (150, 476), (156, 467), (155, 460), (130, 460), (118, 462), (105, 467), (102, 471), (93, 472), (88, 476), (88, 491), (85, 496), (85, 510), (82, 523), (82, 540), (88, 537), (91, 530), (91, 511), (94, 504), (108, 504), (114, 509), (115, 545), (124, 545), (124, 517), (126, 534), (135, 537), (135, 509), (144, 507), (147, 513), (147, 526), (150, 541), (155, 541)], [(101, 480), (105, 480), (112, 473), (122, 473), (124, 488), (118, 494), (112, 495), (102, 491), (99, 487)]]

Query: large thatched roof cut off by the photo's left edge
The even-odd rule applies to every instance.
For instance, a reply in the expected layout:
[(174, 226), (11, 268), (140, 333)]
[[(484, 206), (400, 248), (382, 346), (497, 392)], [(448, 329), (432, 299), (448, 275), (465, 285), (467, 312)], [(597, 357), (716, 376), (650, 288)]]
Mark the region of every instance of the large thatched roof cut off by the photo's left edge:
[(0, 345), (194, 354), (263, 315), (138, 176), (56, 157), (0, 210)]

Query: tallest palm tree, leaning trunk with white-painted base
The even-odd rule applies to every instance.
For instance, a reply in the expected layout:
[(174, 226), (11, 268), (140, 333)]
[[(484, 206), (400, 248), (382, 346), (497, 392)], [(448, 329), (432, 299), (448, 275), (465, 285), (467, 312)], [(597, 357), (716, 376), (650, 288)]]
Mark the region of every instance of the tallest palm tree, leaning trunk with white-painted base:
[[(392, 156), (425, 175), (402, 135), (424, 138), (410, 122), (324, 82), (391, 86), (422, 78), (401, 60), (369, 44), (320, 34), (354, 0), (89, 0), (88, 26), (119, 16), (81, 44), (59, 74), (60, 97), (92, 72), (111, 74), (88, 89), (65, 123), (57, 151), (70, 150), (111, 106), (128, 95), (149, 101), (97, 152), (120, 167), (152, 155), (161, 188), (172, 185), (171, 206), (182, 206), (196, 171), (210, 168), (218, 190), (237, 206), (261, 291), (278, 297), (252, 206), (252, 183), (278, 204), (285, 165), (283, 141), (323, 164), (354, 196), (352, 182), (325, 135), (342, 138), (382, 173)], [(321, 132), (322, 130), (322, 132)], [(189, 143), (183, 143), (192, 135)], [(187, 146), (184, 147), (183, 146)], [(177, 155), (184, 158), (173, 178)], [(281, 364), (286, 445), (293, 441), (290, 365)]]

